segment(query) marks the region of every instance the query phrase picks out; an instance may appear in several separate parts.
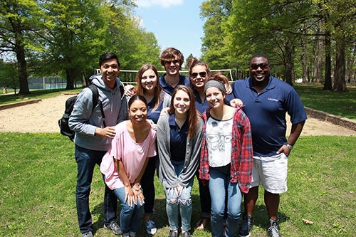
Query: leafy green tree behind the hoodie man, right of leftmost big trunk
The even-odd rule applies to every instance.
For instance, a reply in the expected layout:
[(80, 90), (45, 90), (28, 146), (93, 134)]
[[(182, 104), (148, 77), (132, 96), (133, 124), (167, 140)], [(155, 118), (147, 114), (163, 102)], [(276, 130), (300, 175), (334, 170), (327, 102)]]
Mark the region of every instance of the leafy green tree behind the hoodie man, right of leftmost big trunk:
[[(101, 1), (44, 1), (51, 25), (43, 31), (41, 41), (46, 50), (40, 52), (42, 73), (64, 73), (67, 89), (73, 89), (85, 71), (93, 67), (94, 58), (105, 48), (105, 28)], [(90, 70), (91, 71), (91, 70)]]

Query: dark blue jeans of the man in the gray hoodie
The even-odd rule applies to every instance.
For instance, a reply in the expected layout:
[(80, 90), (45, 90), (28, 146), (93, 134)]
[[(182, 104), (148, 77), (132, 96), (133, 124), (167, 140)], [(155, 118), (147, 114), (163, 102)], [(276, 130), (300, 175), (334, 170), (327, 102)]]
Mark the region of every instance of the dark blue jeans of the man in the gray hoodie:
[[(75, 161), (78, 165), (75, 199), (77, 204), (78, 223), (81, 233), (93, 231), (93, 223), (89, 209), (90, 185), (93, 179), (95, 164), (100, 166), (106, 152), (85, 149), (75, 145)], [(117, 199), (113, 191), (105, 184), (104, 223), (109, 225), (116, 221)]]

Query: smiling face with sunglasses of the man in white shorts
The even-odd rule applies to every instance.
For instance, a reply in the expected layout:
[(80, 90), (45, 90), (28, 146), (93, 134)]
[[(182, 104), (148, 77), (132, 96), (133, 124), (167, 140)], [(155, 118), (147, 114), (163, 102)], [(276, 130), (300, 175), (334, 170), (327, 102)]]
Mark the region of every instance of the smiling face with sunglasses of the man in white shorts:
[(257, 57), (250, 61), (250, 76), (255, 83), (265, 84), (269, 80), (269, 63), (267, 58)]

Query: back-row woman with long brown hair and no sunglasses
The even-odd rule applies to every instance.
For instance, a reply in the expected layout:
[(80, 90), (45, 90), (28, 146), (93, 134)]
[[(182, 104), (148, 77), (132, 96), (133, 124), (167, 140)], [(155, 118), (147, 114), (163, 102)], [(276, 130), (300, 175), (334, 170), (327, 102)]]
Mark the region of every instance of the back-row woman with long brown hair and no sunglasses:
[[(171, 102), (171, 96), (162, 90), (158, 78), (155, 65), (146, 63), (137, 72), (137, 86), (135, 88), (135, 94), (142, 95), (147, 100), (147, 121), (155, 130), (157, 130), (160, 112), (163, 108), (169, 107)], [(152, 220), (155, 204), (154, 177), (157, 162), (157, 156), (150, 158), (141, 181), (143, 195), (145, 196), (145, 216), (142, 220), (145, 223), (147, 233), (151, 236), (157, 232), (155, 221)]]

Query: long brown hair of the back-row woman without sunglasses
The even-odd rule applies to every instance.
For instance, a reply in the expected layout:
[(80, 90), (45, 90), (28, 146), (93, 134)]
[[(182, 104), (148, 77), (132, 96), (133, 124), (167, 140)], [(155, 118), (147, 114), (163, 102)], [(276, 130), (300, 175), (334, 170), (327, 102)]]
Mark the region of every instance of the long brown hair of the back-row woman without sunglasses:
[(157, 84), (155, 87), (155, 93), (153, 95), (153, 100), (155, 100), (155, 106), (152, 108), (152, 111), (157, 110), (157, 107), (159, 105), (159, 102), (161, 102), (161, 85), (159, 85), (159, 76), (158, 76), (158, 71), (157, 68), (155, 67), (155, 65), (152, 65), (150, 63), (146, 63), (144, 65), (142, 65), (142, 67), (138, 70), (137, 74), (136, 74), (136, 83), (137, 83), (137, 87), (136, 87), (136, 95), (142, 95), (145, 96), (145, 89), (142, 87), (142, 75), (143, 73), (145, 73), (145, 71), (152, 69), (157, 77)]

